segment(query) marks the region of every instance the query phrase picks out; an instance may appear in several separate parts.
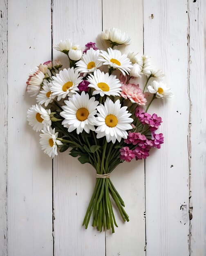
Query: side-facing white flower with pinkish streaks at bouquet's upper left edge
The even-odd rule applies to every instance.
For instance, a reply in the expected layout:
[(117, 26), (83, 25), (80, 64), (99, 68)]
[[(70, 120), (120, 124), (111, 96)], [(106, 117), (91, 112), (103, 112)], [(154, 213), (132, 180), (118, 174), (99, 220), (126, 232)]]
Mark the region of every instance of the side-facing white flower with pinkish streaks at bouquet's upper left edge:
[(29, 72), (29, 79), (27, 80), (27, 92), (30, 96), (36, 96), (40, 90), (40, 85), (43, 83), (45, 74), (41, 72), (38, 67)]

